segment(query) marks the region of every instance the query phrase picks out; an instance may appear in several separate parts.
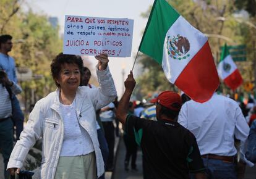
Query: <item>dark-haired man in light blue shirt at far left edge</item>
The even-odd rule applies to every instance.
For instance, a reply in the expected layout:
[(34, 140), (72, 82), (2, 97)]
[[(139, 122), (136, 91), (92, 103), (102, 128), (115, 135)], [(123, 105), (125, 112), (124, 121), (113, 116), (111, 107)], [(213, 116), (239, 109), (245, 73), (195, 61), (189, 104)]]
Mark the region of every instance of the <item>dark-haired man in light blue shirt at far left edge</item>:
[[(12, 36), (0, 36), (0, 69), (7, 73), (9, 80), (17, 84), (15, 60), (9, 56), (12, 50)], [(12, 120), (16, 128), (16, 141), (20, 139), (20, 133), (23, 130), (24, 115), (20, 109), (20, 103), (15, 95), (12, 95)]]

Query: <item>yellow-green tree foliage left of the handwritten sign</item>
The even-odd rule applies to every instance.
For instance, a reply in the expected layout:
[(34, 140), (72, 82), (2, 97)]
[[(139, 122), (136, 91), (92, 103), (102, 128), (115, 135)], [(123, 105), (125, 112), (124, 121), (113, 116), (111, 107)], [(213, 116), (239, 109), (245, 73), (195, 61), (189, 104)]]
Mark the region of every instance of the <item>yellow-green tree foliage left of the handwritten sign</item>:
[[(32, 10), (22, 12), (19, 0), (0, 1), (0, 29), (2, 34), (13, 36), (14, 47), (10, 53), (17, 67), (27, 67), (33, 75), (43, 78), (23, 81), (22, 101), (26, 109), (31, 102), (36, 102), (56, 86), (51, 78), (49, 66), (51, 60), (62, 50), (59, 28), (53, 28), (46, 15), (39, 15)], [(19, 11), (14, 12), (15, 9)], [(31, 99), (31, 90), (35, 91), (35, 101)]]

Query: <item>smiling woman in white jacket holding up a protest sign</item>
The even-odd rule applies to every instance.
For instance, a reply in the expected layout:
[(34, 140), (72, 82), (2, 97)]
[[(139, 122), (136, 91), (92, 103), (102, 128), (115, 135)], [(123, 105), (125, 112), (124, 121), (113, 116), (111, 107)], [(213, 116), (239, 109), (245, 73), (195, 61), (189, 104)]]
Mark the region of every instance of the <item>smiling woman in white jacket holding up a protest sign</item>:
[(58, 89), (36, 102), (7, 169), (20, 172), (30, 148), (43, 138), (41, 178), (96, 178), (104, 173), (104, 162), (96, 131), (95, 110), (116, 97), (108, 69), (108, 56), (95, 56), (100, 88), (80, 85), (81, 57), (59, 54), (51, 63)]

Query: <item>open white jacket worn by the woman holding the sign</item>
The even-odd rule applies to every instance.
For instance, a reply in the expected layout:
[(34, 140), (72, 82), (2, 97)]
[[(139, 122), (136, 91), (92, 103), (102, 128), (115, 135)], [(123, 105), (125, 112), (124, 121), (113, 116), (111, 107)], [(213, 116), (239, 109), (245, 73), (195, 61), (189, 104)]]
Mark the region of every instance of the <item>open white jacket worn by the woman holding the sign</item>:
[[(103, 71), (97, 70), (97, 76), (100, 88), (79, 87), (75, 101), (77, 119), (92, 139), (97, 176), (100, 177), (104, 173), (104, 162), (97, 138), (95, 109), (100, 109), (114, 101), (116, 88), (108, 68)], [(64, 136), (64, 125), (61, 117), (63, 114), (61, 114), (59, 105), (59, 89), (36, 102), (28, 123), (20, 135), (20, 140), (15, 144), (7, 169), (21, 168), (29, 149), (42, 136), (41, 178), (54, 178)]]

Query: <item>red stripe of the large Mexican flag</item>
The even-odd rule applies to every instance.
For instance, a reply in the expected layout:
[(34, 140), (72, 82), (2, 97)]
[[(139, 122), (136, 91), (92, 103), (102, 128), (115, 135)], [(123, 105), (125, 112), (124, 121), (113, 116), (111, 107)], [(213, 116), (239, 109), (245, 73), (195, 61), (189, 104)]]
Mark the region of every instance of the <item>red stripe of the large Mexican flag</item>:
[(194, 101), (205, 102), (211, 98), (220, 80), (208, 41), (190, 60), (174, 84)]

